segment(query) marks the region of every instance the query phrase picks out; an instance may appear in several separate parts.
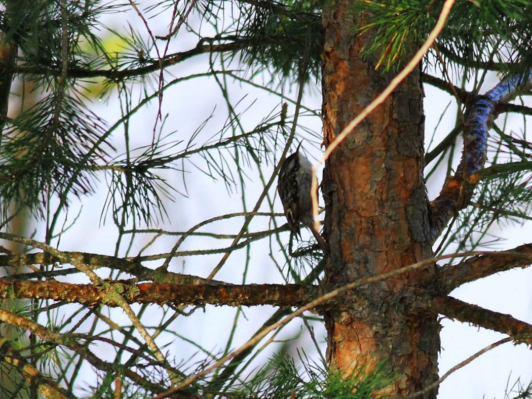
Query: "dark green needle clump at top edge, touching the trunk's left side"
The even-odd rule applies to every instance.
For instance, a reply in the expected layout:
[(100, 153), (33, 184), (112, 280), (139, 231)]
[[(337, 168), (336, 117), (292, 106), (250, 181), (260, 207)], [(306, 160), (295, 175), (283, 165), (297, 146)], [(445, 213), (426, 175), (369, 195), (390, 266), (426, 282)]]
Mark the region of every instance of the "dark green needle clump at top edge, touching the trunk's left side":
[[(267, 72), (292, 83), (317, 77), (323, 47), (320, 5), (315, 0), (237, 2), (238, 19), (218, 37), (242, 44), (242, 61), (254, 73)], [(204, 5), (204, 18), (226, 11), (225, 2)], [(232, 57), (237, 56), (235, 52)]]

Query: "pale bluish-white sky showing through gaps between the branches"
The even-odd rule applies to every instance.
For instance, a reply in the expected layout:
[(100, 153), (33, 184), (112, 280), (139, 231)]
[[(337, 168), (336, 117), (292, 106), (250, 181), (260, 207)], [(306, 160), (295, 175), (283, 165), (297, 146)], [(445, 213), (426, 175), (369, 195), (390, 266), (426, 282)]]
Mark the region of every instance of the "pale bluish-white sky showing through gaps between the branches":
[[(142, 10), (142, 6), (139, 7)], [(122, 24), (126, 23), (126, 16), (129, 22), (134, 24), (137, 29), (145, 34), (142, 22), (135, 14), (127, 13), (112, 16), (112, 23), (108, 22), (115, 29), (120, 29)], [(156, 19), (149, 20), (148, 23), (154, 35), (164, 34), (165, 26), (168, 23), (168, 16), (159, 16)], [(194, 25), (194, 20), (191, 23)], [(203, 35), (209, 35), (209, 28), (204, 24), (205, 31)], [(180, 33), (178, 40), (172, 40), (171, 50), (169, 53), (179, 51), (181, 49), (188, 49), (195, 45), (195, 40), (187, 36), (185, 30)], [(172, 66), (165, 71), (165, 79), (170, 81), (173, 77), (186, 76), (190, 73), (205, 72), (208, 70), (208, 56), (198, 56), (192, 60)], [(173, 75), (173, 77), (172, 77)], [(260, 82), (260, 79), (256, 79)], [(491, 88), (496, 84), (497, 80), (488, 79), (485, 85), (486, 89)], [(140, 88), (140, 86), (139, 86)], [(296, 88), (285, 88), (285, 95), (288, 98), (295, 99), (297, 95)], [(304, 104), (315, 110), (321, 109), (320, 89), (312, 90), (313, 93), (306, 95)], [(483, 90), (485, 92), (485, 90)], [(151, 90), (149, 91), (151, 94)], [(431, 86), (425, 86), (425, 112), (426, 119), (426, 136), (427, 140), (430, 138), (431, 132), (434, 130), (440, 114), (447, 105), (450, 97)], [(139, 91), (136, 90), (136, 95)], [(244, 111), (248, 105), (251, 105), (251, 111), (245, 114), (244, 126), (247, 130), (251, 130), (260, 120), (270, 113), (271, 110), (280, 110), (281, 99), (277, 96), (268, 95), (268, 93), (252, 88), (249, 85), (234, 83), (231, 85), (230, 97), (234, 103), (246, 96), (238, 106), (237, 111)], [(136, 97), (134, 97), (136, 98)], [(138, 98), (138, 97), (137, 97)], [(532, 102), (528, 102), (532, 106)], [(454, 105), (455, 106), (455, 105)], [(444, 137), (448, 131), (454, 126), (454, 109), (447, 111), (445, 117), (439, 125), (437, 130), (437, 137)], [(164, 94), (162, 114), (168, 114), (168, 120), (165, 122), (164, 129), (168, 133), (172, 130), (176, 131), (171, 140), (185, 140), (185, 143), (178, 148), (183, 148), (190, 134), (200, 126), (202, 121), (215, 109), (214, 116), (207, 123), (204, 131), (196, 143), (203, 144), (204, 140), (213, 136), (221, 127), (222, 123), (227, 117), (227, 107), (223, 101), (220, 90), (213, 79), (194, 79), (184, 82), (181, 85), (176, 85), (168, 89)], [(93, 110), (96, 114), (105, 119), (109, 124), (113, 124), (120, 118), (120, 105), (112, 99), (108, 103), (95, 102)], [(135, 114), (131, 119), (132, 146), (146, 145), (151, 142), (151, 135), (155, 118), (157, 114), (157, 101), (145, 107), (143, 110)], [(294, 106), (289, 104), (288, 113), (293, 114)], [(530, 118), (528, 118), (530, 121)], [(305, 117), (300, 119), (300, 123), (311, 128), (315, 134), (319, 135), (321, 132), (321, 121), (318, 117)], [(160, 123), (159, 123), (160, 126)], [(520, 131), (523, 129), (522, 117), (518, 115), (510, 115), (509, 122), (510, 130)], [(303, 130), (299, 130), (300, 133)], [(300, 137), (305, 139), (304, 148), (310, 154), (310, 157), (318, 157), (321, 149), (317, 140), (312, 139), (312, 143), (306, 141), (307, 135), (302, 134)], [(113, 145), (121, 148), (123, 138), (120, 129), (113, 134)], [(435, 140), (437, 143), (438, 140)], [(118, 150), (117, 154), (120, 154)], [(280, 152), (276, 154), (280, 156)], [(198, 165), (204, 165), (201, 157), (194, 157), (192, 159)], [(172, 231), (184, 231), (196, 225), (196, 223), (208, 219), (213, 216), (227, 214), (231, 212), (242, 211), (240, 202), (240, 189), (234, 189), (232, 193), (228, 193), (225, 185), (221, 180), (213, 182), (203, 173), (198, 172), (192, 164), (186, 167), (188, 176), (186, 178), (186, 189), (188, 198), (184, 196), (176, 196), (176, 202), (167, 201), (167, 210), (169, 213), (169, 221), (165, 222), (161, 228)], [(272, 165), (264, 168), (265, 179), (268, 179)], [(249, 178), (246, 179), (245, 197), (247, 201), (248, 210), (254, 206), (256, 198), (262, 191), (262, 184), (258, 178), (256, 171), (247, 169)], [(321, 172), (318, 174), (321, 178)], [(165, 171), (164, 177), (168, 179), (170, 185), (176, 187), (178, 190), (184, 192), (182, 178), (178, 172)], [(441, 187), (444, 176), (439, 176), (438, 179), (433, 179), (432, 184), (428, 187), (429, 198), (434, 198)], [(81, 201), (74, 200), (69, 211), (69, 220), (72, 220), (78, 213), (80, 205), (82, 205), (82, 212), (76, 224), (70, 231), (65, 234), (61, 240), (60, 250), (76, 250), (85, 252), (95, 252), (101, 254), (112, 254), (114, 251), (114, 242), (117, 238), (117, 229), (113, 226), (112, 219), (107, 217), (105, 225), (101, 225), (99, 216), (105, 201), (105, 179), (101, 178), (98, 184), (97, 194), (90, 197), (82, 197)], [(275, 184), (270, 189), (272, 198), (275, 196)], [(321, 200), (320, 200), (321, 201)], [(322, 201), (321, 201), (322, 203)], [(280, 201), (275, 200), (277, 211), (281, 212), (282, 207)], [(262, 210), (267, 210), (265, 206)], [(283, 218), (279, 218), (279, 223), (285, 223)], [(236, 234), (242, 224), (242, 219), (234, 219), (229, 222), (220, 222), (212, 226), (207, 226), (202, 231), (217, 231), (228, 234)], [(268, 228), (268, 219), (264, 217), (257, 217), (251, 225), (252, 231), (258, 231)], [(496, 233), (496, 231), (494, 230)], [(532, 223), (525, 223), (523, 226), (504, 227), (501, 235), (508, 238), (501, 244), (500, 249), (512, 248), (514, 246), (532, 242)], [(135, 255), (137, 251), (142, 248), (153, 235), (146, 235), (139, 237), (133, 244), (131, 255)], [(282, 235), (284, 244), (288, 242), (288, 234)], [(44, 229), (37, 228), (38, 240), (44, 239)], [(175, 237), (159, 238), (154, 245), (152, 245), (145, 254), (155, 254), (170, 251), (174, 245)], [(215, 246), (225, 246), (223, 242), (214, 242), (212, 240), (200, 238), (188, 238), (180, 250), (186, 249), (201, 249), (209, 248), (212, 243)], [(128, 243), (124, 242), (122, 245), (122, 252), (127, 247)], [(277, 244), (275, 244), (277, 245)], [(278, 247), (273, 247), (273, 254), (278, 254)], [(269, 257), (269, 242), (266, 239), (255, 242), (252, 245), (251, 262), (249, 265), (249, 272), (247, 282), (257, 284), (266, 282), (281, 282), (279, 273), (275, 264)], [(209, 255), (201, 257), (188, 257), (186, 262), (182, 259), (174, 259), (171, 263), (170, 270), (185, 272), (192, 275), (206, 276), (212, 268), (221, 259), (221, 255)], [(246, 260), (245, 250), (239, 250), (232, 253), (227, 261), (225, 267), (215, 277), (216, 279), (228, 282), (242, 282), (242, 272)], [(282, 262), (279, 256), (278, 260)], [(154, 262), (154, 267), (162, 264), (161, 262)], [(282, 263), (281, 263), (282, 264)], [(81, 281), (82, 276), (76, 275), (75, 279), (71, 281)], [(525, 270), (516, 269), (498, 275), (491, 276), (479, 281), (472, 282), (456, 289), (452, 296), (460, 300), (474, 303), (487, 309), (498, 312), (509, 313), (520, 320), (532, 323), (532, 290), (530, 283), (532, 282), (532, 268)], [(152, 309), (153, 308), (153, 309)], [(148, 324), (158, 324), (161, 317), (161, 308), (153, 306), (149, 311), (149, 316), (152, 318), (150, 322), (148, 318), (143, 318), (143, 321)], [(68, 307), (65, 307), (68, 309)], [(134, 309), (138, 309), (134, 306)], [(232, 327), (232, 320), (236, 309), (223, 306), (213, 307), (206, 306), (205, 312), (197, 310), (188, 318), (180, 318), (174, 322), (172, 327), (176, 334), (187, 338), (197, 340), (198, 343), (207, 351), (214, 353), (223, 350), (226, 339)], [(236, 332), (234, 347), (242, 344), (251, 336), (251, 334), (266, 320), (271, 313), (275, 311), (270, 306), (257, 306), (244, 308), (246, 320), (242, 321), (242, 326)], [(111, 311), (113, 320), (117, 323), (129, 324), (129, 320), (123, 314), (122, 310), (114, 309)], [(325, 329), (320, 323), (314, 323), (315, 335), (325, 351)], [(439, 359), (440, 374), (443, 374), (448, 369), (453, 367), (456, 363), (463, 361), (473, 353), (477, 352), (484, 346), (494, 343), (504, 337), (485, 329), (478, 329), (477, 327), (468, 326), (460, 322), (453, 322), (447, 319), (442, 320), (442, 351)], [(105, 328), (102, 327), (102, 328)], [(294, 338), (300, 332), (300, 323), (291, 322), (276, 339), (282, 340), (287, 338)], [(157, 341), (161, 346), (165, 343), (170, 343), (167, 350), (176, 356), (176, 359), (188, 359), (193, 356), (194, 359), (201, 359), (203, 356), (197, 354), (198, 349), (187, 345), (183, 340), (175, 336), (165, 336)], [(316, 361), (319, 358), (313, 350), (309, 335), (303, 329), (300, 341), (294, 343), (296, 346), (304, 347), (307, 354), (312, 356)], [(271, 353), (275, 352), (279, 344), (270, 345), (259, 357), (259, 361), (255, 364), (260, 364), (267, 359)], [(99, 356), (106, 355), (107, 348), (105, 345), (99, 345), (95, 348), (95, 353)], [(87, 377), (92, 373), (86, 373)], [(439, 398), (451, 399), (458, 397), (486, 397), (486, 398), (503, 398), (506, 381), (510, 381), (510, 385), (514, 383), (517, 377), (521, 377), (522, 383), (527, 384), (532, 379), (532, 352), (529, 351), (525, 345), (514, 346), (511, 343), (504, 344), (495, 350), (482, 355), (480, 358), (474, 360), (472, 363), (466, 365), (463, 369), (453, 373), (439, 388)], [(87, 380), (89, 385), (94, 381)], [(83, 388), (83, 387), (79, 387)]]

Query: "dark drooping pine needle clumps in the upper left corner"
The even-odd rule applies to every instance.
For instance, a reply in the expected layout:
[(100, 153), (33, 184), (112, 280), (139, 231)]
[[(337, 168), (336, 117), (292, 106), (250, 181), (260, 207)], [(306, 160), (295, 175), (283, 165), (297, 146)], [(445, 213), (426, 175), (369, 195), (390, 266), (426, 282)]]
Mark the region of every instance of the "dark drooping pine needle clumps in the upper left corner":
[(113, 147), (104, 137), (106, 123), (88, 109), (76, 79), (63, 69), (90, 70), (98, 64), (84, 48), (87, 43), (98, 47), (97, 19), (119, 7), (90, 0), (23, 0), (7, 1), (0, 12), (3, 39), (18, 46), (18, 64), (32, 73), (34, 89), (44, 95), (4, 124), (0, 196), (9, 200), (3, 201), (3, 211), (14, 201), (44, 217), (52, 196), (66, 205), (69, 193), (93, 192), (94, 174), (89, 168), (108, 160)]

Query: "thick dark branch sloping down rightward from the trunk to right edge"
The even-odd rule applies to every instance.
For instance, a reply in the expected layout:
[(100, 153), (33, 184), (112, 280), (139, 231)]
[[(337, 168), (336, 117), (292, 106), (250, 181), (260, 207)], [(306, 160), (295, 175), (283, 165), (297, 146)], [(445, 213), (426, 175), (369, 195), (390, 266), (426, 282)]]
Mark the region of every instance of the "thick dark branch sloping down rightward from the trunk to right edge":
[(532, 345), (532, 325), (513, 318), (509, 314), (484, 309), (484, 307), (472, 305), (450, 296), (433, 298), (430, 301), (430, 305), (434, 311), (450, 319), (502, 332), (502, 334), (508, 334), (517, 342)]

